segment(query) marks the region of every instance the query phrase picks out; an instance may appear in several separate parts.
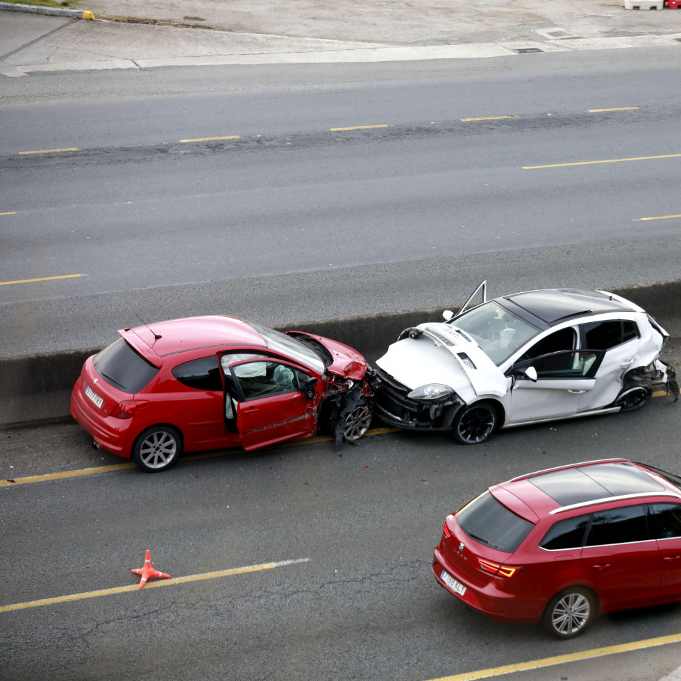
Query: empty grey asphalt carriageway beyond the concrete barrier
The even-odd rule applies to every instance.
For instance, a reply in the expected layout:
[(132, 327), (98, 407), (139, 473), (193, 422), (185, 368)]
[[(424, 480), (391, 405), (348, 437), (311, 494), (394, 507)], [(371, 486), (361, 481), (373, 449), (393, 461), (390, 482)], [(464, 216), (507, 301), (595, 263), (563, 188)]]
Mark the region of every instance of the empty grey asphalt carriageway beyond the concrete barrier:
[(664, 54), (6, 79), (3, 352), (678, 278)]

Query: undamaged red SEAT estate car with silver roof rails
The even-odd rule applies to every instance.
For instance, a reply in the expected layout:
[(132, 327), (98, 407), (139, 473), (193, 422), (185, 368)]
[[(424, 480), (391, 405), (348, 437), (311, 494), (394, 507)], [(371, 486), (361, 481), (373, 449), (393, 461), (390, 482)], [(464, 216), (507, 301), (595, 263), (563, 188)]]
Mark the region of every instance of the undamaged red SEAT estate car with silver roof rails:
[(561, 639), (599, 611), (681, 600), (681, 478), (608, 459), (494, 485), (447, 516), (432, 573), (494, 621)]

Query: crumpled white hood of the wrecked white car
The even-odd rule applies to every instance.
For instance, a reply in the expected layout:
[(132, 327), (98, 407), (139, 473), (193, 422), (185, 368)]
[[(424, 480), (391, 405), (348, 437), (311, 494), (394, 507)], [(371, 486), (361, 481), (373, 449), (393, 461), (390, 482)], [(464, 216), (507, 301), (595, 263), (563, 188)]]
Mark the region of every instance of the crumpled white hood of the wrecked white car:
[[(444, 383), (466, 403), (476, 396), (506, 393), (508, 379), (480, 346), (455, 326), (424, 323), (402, 335), (406, 337), (389, 346), (376, 364), (409, 389)], [(475, 368), (468, 366), (469, 362)]]

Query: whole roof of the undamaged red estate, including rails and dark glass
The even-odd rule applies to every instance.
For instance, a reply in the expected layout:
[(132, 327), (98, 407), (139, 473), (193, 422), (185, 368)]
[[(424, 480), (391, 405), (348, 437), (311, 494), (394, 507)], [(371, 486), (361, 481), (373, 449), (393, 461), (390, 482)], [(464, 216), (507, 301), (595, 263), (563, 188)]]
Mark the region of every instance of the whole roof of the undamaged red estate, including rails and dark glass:
[(512, 511), (528, 519), (528, 507), (536, 516), (543, 517), (567, 507), (588, 507), (620, 498), (681, 498), (681, 490), (671, 482), (643, 464), (625, 459), (583, 462), (530, 473), (490, 487), (490, 491)]

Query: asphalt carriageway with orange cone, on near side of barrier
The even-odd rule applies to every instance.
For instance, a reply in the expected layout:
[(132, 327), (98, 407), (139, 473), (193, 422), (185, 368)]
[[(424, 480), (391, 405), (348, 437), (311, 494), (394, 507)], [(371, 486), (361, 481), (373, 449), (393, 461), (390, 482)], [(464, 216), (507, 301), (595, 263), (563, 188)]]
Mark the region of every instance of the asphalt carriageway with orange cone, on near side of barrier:
[[(619, 455), (678, 471), (677, 423), (678, 405), (655, 398), (485, 446), (388, 432), (360, 446), (214, 453), (158, 475), (69, 474), (121, 463), (77, 426), (3, 432), (1, 475), (17, 482), (0, 487), (0, 603), (56, 599), (0, 612), (3, 678), (426, 681), (572, 655), (510, 678), (657, 681), (680, 644), (628, 648), (678, 634), (678, 607), (601, 616), (556, 641), (469, 611), (436, 585), (430, 558), (444, 516), (494, 482)], [(139, 591), (130, 570), (147, 548), (173, 578), (246, 570)]]

